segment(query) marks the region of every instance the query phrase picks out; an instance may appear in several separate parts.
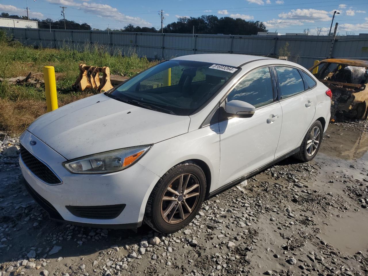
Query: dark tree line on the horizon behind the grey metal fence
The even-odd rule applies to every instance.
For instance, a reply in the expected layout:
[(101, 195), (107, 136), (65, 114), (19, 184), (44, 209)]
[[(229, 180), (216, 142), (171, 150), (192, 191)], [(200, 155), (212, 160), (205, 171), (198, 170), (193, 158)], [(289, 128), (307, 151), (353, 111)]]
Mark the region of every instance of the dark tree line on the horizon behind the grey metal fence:
[[(8, 13), (1, 13), (0, 17), (24, 19), (25, 16), (9, 15)], [(38, 21), (40, 29), (64, 29), (64, 20), (60, 19), (53, 21), (50, 18), (39, 20), (32, 18), (33, 21)], [(79, 24), (75, 21), (65, 20), (66, 29), (74, 30), (92, 30), (87, 23)], [(93, 29), (99, 30), (99, 29)], [(108, 29), (106, 29), (107, 31)], [(140, 27), (129, 24), (119, 30), (112, 30), (112, 32), (151, 32), (158, 33), (161, 29), (153, 27)], [(198, 34), (224, 34), (224, 35), (256, 35), (258, 32), (267, 32), (266, 26), (260, 21), (246, 21), (241, 18), (221, 17), (216, 15), (202, 15), (199, 17), (180, 17), (176, 22), (167, 24), (163, 28), (164, 33), (198, 33)]]

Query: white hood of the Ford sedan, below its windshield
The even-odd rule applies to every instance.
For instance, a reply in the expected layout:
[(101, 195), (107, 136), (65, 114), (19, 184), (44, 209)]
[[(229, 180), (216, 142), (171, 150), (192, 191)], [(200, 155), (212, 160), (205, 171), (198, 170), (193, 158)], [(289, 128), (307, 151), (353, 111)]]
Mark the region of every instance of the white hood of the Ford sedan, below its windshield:
[(188, 132), (189, 116), (145, 109), (91, 96), (34, 121), (27, 130), (66, 159), (154, 144)]

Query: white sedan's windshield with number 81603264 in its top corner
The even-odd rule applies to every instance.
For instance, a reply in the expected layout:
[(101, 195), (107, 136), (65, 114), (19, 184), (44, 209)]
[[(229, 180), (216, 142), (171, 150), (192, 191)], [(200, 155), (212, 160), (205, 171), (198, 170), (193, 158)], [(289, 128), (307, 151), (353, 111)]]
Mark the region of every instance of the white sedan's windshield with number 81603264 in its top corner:
[(160, 63), (124, 82), (114, 99), (176, 115), (190, 115), (209, 100), (238, 68), (188, 60)]

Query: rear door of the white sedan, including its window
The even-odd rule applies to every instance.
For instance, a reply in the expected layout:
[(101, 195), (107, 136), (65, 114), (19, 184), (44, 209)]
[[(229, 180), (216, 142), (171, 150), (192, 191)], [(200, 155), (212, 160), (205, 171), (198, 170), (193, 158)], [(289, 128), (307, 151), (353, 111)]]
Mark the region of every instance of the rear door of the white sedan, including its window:
[(307, 83), (304, 85), (304, 77), (297, 68), (273, 68), (283, 114), (279, 145), (275, 153), (277, 159), (300, 146), (314, 118), (316, 95)]

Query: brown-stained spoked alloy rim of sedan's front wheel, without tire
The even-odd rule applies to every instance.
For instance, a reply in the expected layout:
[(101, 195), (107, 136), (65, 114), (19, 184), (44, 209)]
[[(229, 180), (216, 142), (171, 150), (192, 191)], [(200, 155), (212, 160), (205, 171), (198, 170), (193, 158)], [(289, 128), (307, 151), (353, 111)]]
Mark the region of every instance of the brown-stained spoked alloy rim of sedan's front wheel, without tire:
[(170, 224), (185, 220), (195, 209), (200, 192), (198, 178), (193, 174), (177, 176), (167, 186), (161, 199), (162, 218)]

